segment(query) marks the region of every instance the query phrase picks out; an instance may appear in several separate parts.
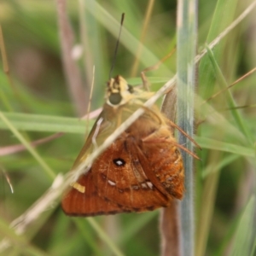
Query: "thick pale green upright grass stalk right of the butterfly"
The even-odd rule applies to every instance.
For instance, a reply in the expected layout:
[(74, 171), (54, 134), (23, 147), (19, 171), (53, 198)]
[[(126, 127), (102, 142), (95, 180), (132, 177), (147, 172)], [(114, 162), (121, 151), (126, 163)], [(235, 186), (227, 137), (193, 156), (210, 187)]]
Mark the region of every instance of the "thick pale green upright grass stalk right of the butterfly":
[[(197, 1), (177, 2), (177, 125), (193, 137), (195, 55), (197, 44)], [(187, 137), (179, 135), (178, 142), (193, 151)], [(193, 159), (183, 154), (186, 193), (180, 203), (181, 251), (192, 256), (195, 249)]]

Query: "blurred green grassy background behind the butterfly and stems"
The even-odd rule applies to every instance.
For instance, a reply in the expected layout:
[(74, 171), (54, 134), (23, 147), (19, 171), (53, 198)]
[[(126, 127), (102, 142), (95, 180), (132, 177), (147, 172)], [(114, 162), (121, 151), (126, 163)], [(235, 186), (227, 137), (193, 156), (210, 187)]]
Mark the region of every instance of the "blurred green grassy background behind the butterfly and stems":
[[(84, 90), (95, 65), (95, 88), (91, 109), (102, 106), (105, 83), (113, 60), (118, 23), (125, 12), (125, 28), (113, 75), (121, 74), (139, 84), (139, 71), (154, 65), (173, 49), (176, 38), (176, 5), (154, 3), (135, 72), (137, 41), (141, 38), (147, 2), (93, 1), (89, 11), (77, 1), (67, 2), (68, 15), (81, 40), (79, 11), (87, 26), (84, 42), (88, 49), (78, 61)], [(199, 49), (218, 37), (248, 6), (245, 1), (199, 1)], [(102, 12), (109, 17), (101, 22)], [(254, 10), (255, 15), (255, 10)], [(199, 65), (198, 94), (207, 99), (255, 67), (255, 23), (248, 15)], [(107, 16), (106, 16), (107, 17)], [(78, 119), (78, 102), (70, 96), (61, 66), (61, 46), (55, 1), (10, 1), (0, 3), (0, 22), (13, 84), (0, 70), (0, 109), (28, 141), (65, 131), (63, 137), (39, 146), (36, 151), (49, 166), (38, 163), (26, 150), (1, 157), (0, 237), (14, 242), (3, 255), (112, 255), (99, 232), (88, 220), (67, 218), (56, 204), (17, 237), (9, 223), (37, 201), (53, 181), (53, 173), (68, 172), (84, 141), (85, 123)], [(152, 90), (157, 90), (176, 72), (175, 55), (152, 73)], [(86, 63), (84, 64), (84, 59)], [(255, 75), (243, 79), (195, 110), (198, 142), (203, 150), (195, 163), (196, 253), (195, 255), (253, 255), (255, 248)], [(237, 106), (245, 106), (234, 110)], [(22, 113), (22, 114), (20, 114)], [(84, 109), (86, 113), (86, 109)], [(200, 124), (200, 125), (199, 125)], [(0, 120), (0, 146), (20, 143)], [(2, 151), (1, 151), (2, 152)], [(15, 193), (4, 177), (8, 173)], [(125, 255), (158, 255), (160, 235), (158, 211), (97, 217), (114, 244)], [(253, 223), (254, 222), (254, 223)], [(242, 253), (240, 253), (242, 252)], [(7, 254), (6, 254), (7, 253)]]

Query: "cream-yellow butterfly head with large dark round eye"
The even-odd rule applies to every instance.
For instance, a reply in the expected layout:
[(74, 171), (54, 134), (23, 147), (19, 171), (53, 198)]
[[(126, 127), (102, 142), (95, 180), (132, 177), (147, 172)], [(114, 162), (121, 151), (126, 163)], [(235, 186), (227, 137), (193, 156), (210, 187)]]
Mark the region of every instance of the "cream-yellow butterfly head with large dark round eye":
[(107, 89), (107, 103), (112, 107), (119, 107), (129, 102), (134, 96), (133, 87), (121, 76), (109, 79)]

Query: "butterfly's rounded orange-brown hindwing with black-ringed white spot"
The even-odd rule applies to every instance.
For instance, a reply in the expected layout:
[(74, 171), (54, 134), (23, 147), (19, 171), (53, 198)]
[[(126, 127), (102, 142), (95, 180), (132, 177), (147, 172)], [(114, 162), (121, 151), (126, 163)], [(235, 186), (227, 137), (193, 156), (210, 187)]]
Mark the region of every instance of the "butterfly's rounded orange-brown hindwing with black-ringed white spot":
[(131, 212), (166, 207), (168, 194), (147, 177), (138, 154), (137, 143), (124, 133), (96, 160), (91, 169), (99, 196)]

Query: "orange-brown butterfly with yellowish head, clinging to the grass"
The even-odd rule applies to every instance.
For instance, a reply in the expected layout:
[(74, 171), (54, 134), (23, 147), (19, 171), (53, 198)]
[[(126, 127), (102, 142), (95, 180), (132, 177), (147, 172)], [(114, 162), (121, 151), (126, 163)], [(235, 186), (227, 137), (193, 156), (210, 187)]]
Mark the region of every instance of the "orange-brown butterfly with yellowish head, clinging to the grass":
[(155, 105), (143, 107), (150, 96), (152, 92), (132, 87), (121, 76), (109, 79), (102, 113), (73, 169), (138, 108), (144, 113), (67, 189), (61, 201), (67, 215), (146, 212), (183, 198), (183, 146), (173, 136), (177, 126)]

